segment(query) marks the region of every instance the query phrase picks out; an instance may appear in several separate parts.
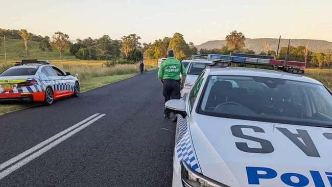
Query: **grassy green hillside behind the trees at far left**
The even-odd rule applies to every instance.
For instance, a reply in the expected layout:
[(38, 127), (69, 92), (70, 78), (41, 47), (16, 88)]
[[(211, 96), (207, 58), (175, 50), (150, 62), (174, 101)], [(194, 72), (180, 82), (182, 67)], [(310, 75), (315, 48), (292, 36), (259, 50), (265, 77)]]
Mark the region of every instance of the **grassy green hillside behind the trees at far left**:
[[(0, 38), (0, 63), (5, 62), (5, 50), (4, 50), (4, 38)], [(53, 48), (52, 52), (42, 52), (39, 50), (39, 42), (37, 41), (28, 41), (29, 46), (29, 59), (39, 59), (39, 60), (52, 60), (52, 59), (60, 59), (59, 51), (55, 48)], [(19, 61), (19, 55), (18, 52), (22, 51), (24, 52), (24, 44), (22, 40), (20, 39), (11, 39), (6, 38), (6, 59), (8, 63), (12, 63), (15, 61)], [(75, 56), (70, 54), (69, 52), (65, 52), (62, 56), (62, 59), (68, 59), (68, 60), (75, 60)]]

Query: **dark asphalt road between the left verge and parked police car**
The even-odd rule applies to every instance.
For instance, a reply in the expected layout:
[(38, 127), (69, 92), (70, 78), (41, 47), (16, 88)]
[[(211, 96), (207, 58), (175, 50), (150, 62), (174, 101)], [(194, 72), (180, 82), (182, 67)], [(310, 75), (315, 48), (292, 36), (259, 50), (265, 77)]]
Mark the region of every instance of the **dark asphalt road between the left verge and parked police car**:
[(156, 73), (0, 116), (0, 186), (171, 186), (175, 123)]

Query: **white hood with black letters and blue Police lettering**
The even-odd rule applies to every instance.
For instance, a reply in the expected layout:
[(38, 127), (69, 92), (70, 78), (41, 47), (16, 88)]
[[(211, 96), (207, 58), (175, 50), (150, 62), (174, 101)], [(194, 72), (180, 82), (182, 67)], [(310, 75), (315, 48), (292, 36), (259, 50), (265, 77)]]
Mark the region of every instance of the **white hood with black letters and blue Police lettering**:
[(332, 185), (332, 129), (193, 114), (202, 174), (229, 186)]

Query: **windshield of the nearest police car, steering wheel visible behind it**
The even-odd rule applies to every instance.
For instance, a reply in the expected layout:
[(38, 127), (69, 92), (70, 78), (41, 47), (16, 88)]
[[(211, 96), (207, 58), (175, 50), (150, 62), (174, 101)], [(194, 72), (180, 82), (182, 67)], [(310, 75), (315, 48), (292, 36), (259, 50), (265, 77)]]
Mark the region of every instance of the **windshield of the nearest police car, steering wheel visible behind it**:
[(253, 76), (209, 76), (198, 113), (326, 126), (332, 124), (332, 96), (319, 84)]

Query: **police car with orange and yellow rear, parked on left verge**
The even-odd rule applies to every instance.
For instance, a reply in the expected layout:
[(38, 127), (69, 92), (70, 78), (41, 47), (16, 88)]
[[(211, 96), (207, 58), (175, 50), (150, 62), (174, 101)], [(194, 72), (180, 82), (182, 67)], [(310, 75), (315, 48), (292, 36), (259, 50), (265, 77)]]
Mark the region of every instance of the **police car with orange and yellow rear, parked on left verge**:
[(79, 97), (80, 82), (44, 60), (22, 60), (0, 73), (0, 101), (41, 101), (52, 105), (66, 96)]

